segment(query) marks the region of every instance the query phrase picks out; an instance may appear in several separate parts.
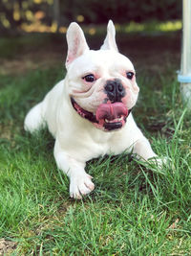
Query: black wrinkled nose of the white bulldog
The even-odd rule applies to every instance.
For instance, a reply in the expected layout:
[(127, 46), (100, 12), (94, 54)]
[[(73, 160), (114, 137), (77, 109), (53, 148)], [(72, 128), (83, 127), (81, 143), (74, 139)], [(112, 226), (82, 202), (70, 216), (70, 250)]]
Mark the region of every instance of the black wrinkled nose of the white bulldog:
[(105, 92), (112, 103), (121, 102), (121, 99), (125, 96), (125, 88), (118, 79), (107, 81)]

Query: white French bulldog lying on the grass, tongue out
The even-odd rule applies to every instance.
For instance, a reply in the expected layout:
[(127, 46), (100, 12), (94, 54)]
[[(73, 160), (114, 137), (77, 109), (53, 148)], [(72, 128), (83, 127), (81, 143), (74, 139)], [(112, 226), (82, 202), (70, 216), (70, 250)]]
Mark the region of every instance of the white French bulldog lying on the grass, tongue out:
[(95, 189), (85, 172), (90, 159), (131, 151), (147, 161), (157, 154), (131, 113), (138, 100), (136, 71), (130, 59), (118, 53), (113, 22), (100, 50), (89, 49), (75, 22), (66, 37), (66, 77), (32, 107), (24, 128), (49, 128), (56, 165), (70, 178), (70, 196), (82, 198)]

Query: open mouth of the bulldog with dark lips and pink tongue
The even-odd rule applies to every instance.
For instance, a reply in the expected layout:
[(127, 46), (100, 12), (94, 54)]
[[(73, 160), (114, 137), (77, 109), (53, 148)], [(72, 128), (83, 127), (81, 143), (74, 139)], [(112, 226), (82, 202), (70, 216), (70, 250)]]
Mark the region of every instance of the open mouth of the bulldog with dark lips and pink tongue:
[(126, 105), (122, 103), (101, 104), (96, 109), (96, 114), (89, 112), (78, 105), (73, 98), (71, 98), (74, 110), (83, 118), (93, 123), (96, 128), (104, 130), (115, 130), (122, 128), (131, 109), (128, 110)]

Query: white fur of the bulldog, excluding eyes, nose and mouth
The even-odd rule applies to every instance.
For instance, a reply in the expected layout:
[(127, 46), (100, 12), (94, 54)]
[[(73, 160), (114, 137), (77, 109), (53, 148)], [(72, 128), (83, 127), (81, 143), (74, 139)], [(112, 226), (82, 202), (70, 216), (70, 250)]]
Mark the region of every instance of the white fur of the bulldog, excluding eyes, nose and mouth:
[(128, 108), (136, 104), (136, 81), (127, 81), (119, 74), (119, 70), (134, 70), (134, 67), (128, 58), (117, 53), (115, 27), (112, 21), (109, 22), (108, 33), (101, 50), (89, 50), (83, 32), (76, 23), (70, 26), (67, 40), (69, 50), (66, 78), (59, 81), (44, 100), (30, 110), (24, 127), (34, 132), (47, 124), (55, 138), (53, 152), (57, 167), (70, 177), (70, 196), (81, 198), (95, 188), (92, 177), (84, 170), (88, 160), (123, 151), (133, 151), (145, 160), (155, 157), (156, 154), (137, 127), (132, 114), (127, 118), (124, 128), (106, 132), (79, 116), (70, 101), (70, 96), (75, 96), (75, 91), (84, 90), (86, 86), (81, 80), (82, 75), (96, 72), (100, 78), (92, 86), (90, 95), (88, 91), (76, 98), (85, 109), (96, 109), (96, 103), (101, 103), (99, 96), (103, 84), (111, 78), (124, 80), (130, 95)]

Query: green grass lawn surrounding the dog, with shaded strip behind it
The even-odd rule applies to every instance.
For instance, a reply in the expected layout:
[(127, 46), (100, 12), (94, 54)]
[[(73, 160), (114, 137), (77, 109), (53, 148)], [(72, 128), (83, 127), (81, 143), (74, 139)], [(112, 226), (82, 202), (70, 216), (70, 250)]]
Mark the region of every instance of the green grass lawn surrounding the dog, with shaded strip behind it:
[[(159, 170), (130, 155), (90, 161), (96, 190), (69, 198), (53, 138), (23, 120), (63, 78), (62, 35), (0, 39), (0, 255), (191, 255), (191, 121), (176, 70), (180, 33), (117, 35), (138, 70), (134, 116), (160, 155)], [(89, 36), (91, 46), (100, 37)]]

